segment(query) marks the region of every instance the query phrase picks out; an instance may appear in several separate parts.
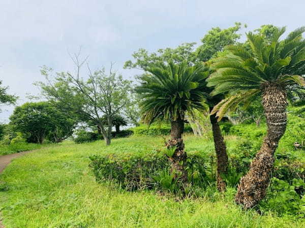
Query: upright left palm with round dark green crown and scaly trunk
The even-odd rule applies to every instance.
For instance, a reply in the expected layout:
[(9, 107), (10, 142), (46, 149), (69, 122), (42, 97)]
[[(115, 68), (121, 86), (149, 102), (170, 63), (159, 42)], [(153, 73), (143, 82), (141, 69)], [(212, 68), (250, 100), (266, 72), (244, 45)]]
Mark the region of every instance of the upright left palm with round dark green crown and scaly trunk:
[(173, 153), (168, 159), (175, 178), (186, 182), (187, 154), (182, 141), (185, 115), (205, 109), (207, 94), (204, 88), (208, 72), (203, 65), (189, 66), (185, 62), (160, 64), (148, 68), (147, 72), (139, 77), (140, 85), (136, 87), (142, 99), (142, 120), (149, 124), (157, 119), (170, 121), (171, 139), (166, 145)]

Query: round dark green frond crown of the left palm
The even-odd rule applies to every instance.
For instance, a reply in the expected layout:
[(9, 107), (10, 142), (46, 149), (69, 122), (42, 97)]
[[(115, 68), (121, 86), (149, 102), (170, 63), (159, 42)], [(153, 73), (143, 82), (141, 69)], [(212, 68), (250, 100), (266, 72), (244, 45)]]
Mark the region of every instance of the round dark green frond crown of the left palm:
[(194, 110), (204, 110), (205, 79), (208, 75), (203, 65), (161, 64), (148, 68), (150, 74), (139, 77), (142, 118), (152, 123), (156, 118), (175, 121), (184, 120), (185, 113), (194, 115)]

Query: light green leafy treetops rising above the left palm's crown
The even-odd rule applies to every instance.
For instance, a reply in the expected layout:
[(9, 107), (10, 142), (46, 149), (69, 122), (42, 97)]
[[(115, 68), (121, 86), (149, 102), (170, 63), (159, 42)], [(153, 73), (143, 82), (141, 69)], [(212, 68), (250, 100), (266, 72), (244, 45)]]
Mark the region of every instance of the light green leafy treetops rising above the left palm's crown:
[(220, 29), (212, 28), (201, 39), (201, 45), (196, 48), (196, 43), (184, 43), (176, 48), (158, 49), (157, 52), (148, 53), (145, 49), (139, 49), (133, 53), (134, 62), (128, 60), (124, 68), (137, 68), (147, 70), (147, 68), (166, 62), (180, 64), (187, 62), (188, 65), (197, 64), (200, 61), (207, 61), (211, 57), (217, 56), (227, 45), (235, 44), (240, 34), (236, 32), (241, 24), (235, 23), (235, 26)]

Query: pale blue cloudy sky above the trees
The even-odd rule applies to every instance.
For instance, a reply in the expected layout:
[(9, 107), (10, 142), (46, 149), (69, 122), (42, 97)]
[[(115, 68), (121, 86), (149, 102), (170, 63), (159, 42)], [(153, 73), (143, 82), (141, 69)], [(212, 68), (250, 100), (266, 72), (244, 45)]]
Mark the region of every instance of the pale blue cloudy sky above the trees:
[[(303, 0), (0, 0), (0, 80), (20, 105), (40, 93), (33, 83), (44, 81), (41, 66), (71, 71), (68, 53), (80, 47), (90, 68), (107, 70), (112, 61), (132, 79), (139, 72), (123, 66), (139, 48), (200, 43), (212, 27), (234, 22), (248, 25), (242, 34), (263, 24), (291, 31), (305, 25), (304, 9)], [(0, 108), (0, 123), (8, 122), (14, 106)]]

